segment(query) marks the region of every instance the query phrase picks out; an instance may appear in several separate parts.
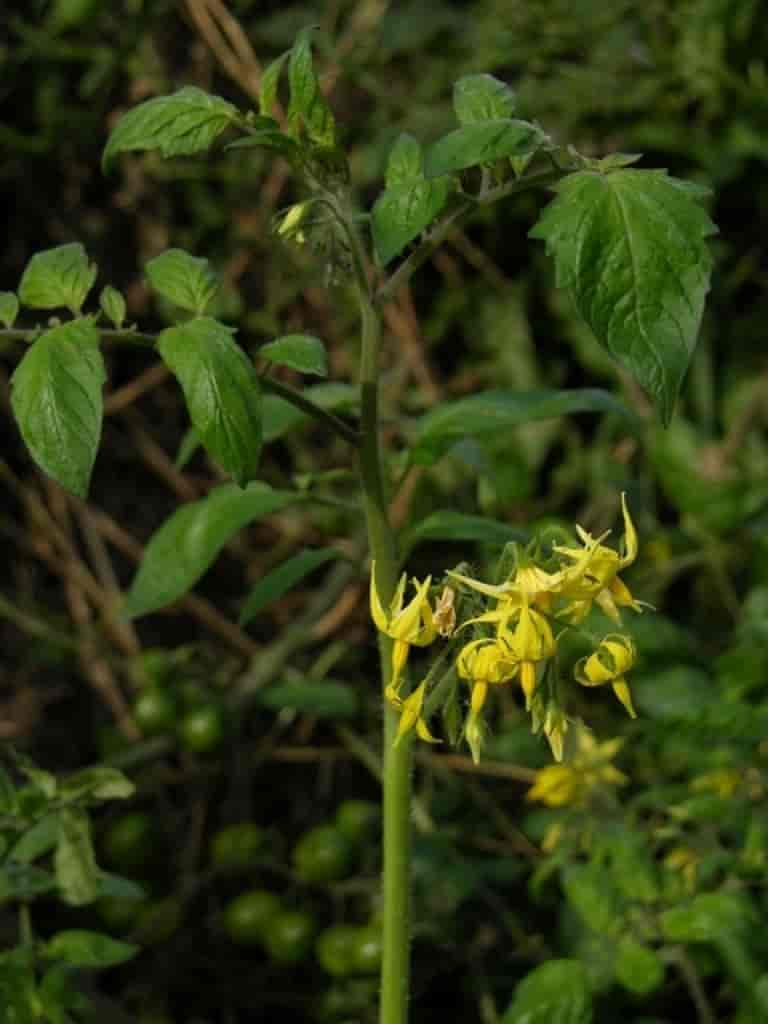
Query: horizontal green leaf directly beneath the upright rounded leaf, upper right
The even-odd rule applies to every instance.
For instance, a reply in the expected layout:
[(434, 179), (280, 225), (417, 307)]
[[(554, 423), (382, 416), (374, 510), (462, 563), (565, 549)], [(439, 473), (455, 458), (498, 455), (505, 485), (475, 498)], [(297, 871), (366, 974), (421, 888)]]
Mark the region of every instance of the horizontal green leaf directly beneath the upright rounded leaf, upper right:
[(499, 118), (457, 128), (427, 150), (424, 173), (428, 178), (454, 174), (504, 157), (520, 157), (537, 150), (544, 136), (527, 121)]

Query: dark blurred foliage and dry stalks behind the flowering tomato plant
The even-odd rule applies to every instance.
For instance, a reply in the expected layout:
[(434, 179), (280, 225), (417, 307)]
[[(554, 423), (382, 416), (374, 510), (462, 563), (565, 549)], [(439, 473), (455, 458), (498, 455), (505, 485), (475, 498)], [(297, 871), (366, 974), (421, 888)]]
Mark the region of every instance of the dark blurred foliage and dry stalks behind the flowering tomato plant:
[[(183, 248), (221, 273), (209, 312), (237, 325), (246, 347), (316, 335), (331, 380), (350, 379), (352, 311), (318, 287), (322, 260), (275, 238), (275, 218), (300, 198), (279, 161), (254, 150), (195, 162), (135, 154), (115, 176), (100, 171), (106, 136), (128, 108), (184, 85), (253, 101), (261, 68), (314, 23), (324, 30), (324, 86), (368, 206), (397, 134), (429, 142), (452, 128), (453, 83), (478, 71), (510, 83), (523, 117), (581, 152), (642, 152), (639, 166), (713, 190), (713, 292), (667, 430), (555, 291), (544, 247), (526, 238), (539, 207), (530, 196), (457, 230), (387, 309), (395, 442), (441, 398), (489, 387), (599, 384), (623, 393), (641, 420), (634, 431), (609, 413), (545, 420), (420, 467), (395, 509), (414, 571), (460, 559), (493, 564), (492, 542), (509, 536), (500, 527), (452, 543), (445, 509), (481, 511), (507, 529), (556, 530), (574, 518), (600, 529), (626, 489), (642, 542), (633, 591), (656, 608), (633, 623), (637, 722), (604, 702), (585, 705), (600, 737), (625, 736), (616, 764), (626, 786), (597, 786), (561, 808), (526, 801), (548, 756), (511, 696), (479, 772), (460, 756), (421, 756), (414, 1012), (437, 1020), (450, 993), (457, 1017), (513, 1024), (536, 1011), (550, 1020), (547, 1000), (560, 992), (567, 1005), (556, 1009), (573, 1022), (591, 1012), (606, 1024), (763, 1020), (768, 39), (760, 4), (480, 0), (468, 13), (442, 0), (231, 2), (244, 35), (221, 9), (212, 0), (6, 5), (0, 178), (14, 202), (0, 287), (15, 289), (38, 250), (78, 241), (127, 296), (128, 319), (159, 330), (171, 310), (141, 268)], [(271, 510), (227, 545), (194, 597), (131, 625), (118, 615), (120, 591), (142, 544), (179, 501), (218, 482), (218, 470), (188, 443), (167, 372), (121, 351), (109, 356), (90, 501), (65, 497), (32, 468), (11, 428), (7, 379), (18, 355), (7, 344), (0, 362), (0, 729), (49, 770), (74, 772), (103, 756), (126, 768), (136, 785), (130, 804), (88, 812), (99, 864), (145, 894), (112, 891), (95, 908), (77, 900), (62, 908), (41, 890), (36, 931), (106, 927), (142, 947), (100, 981), (79, 983), (116, 1021), (367, 1019), (374, 983), (361, 968), (339, 967), (352, 946), (342, 937), (335, 956), (311, 951), (313, 931), (373, 923), (375, 937), (376, 925), (375, 819), (353, 839), (341, 828), (341, 840), (337, 820), (350, 799), (378, 799), (379, 696), (353, 570), (359, 513), (338, 468), (344, 449), (265, 397), (273, 404), (262, 477), (327, 501)], [(348, 401), (343, 384), (311, 387), (328, 407)], [(307, 554), (286, 577), (283, 563), (302, 548), (345, 557)], [(252, 585), (276, 566), (284, 575), (251, 594), (247, 625), (238, 625)], [(39, 813), (38, 797), (29, 800)], [(244, 821), (258, 828), (237, 838), (246, 867), (232, 870), (214, 838)], [(328, 834), (307, 841), (333, 822), (330, 852)], [(44, 844), (38, 853), (46, 856)], [(281, 907), (252, 900), (244, 940), (231, 906), (253, 891)], [(253, 923), (264, 903), (265, 930)], [(14, 941), (15, 911), (12, 899), (0, 908), (3, 945)], [(362, 956), (359, 931), (354, 939)], [(83, 966), (68, 941), (69, 963), (81, 955)], [(51, 948), (60, 953), (61, 943)], [(117, 963), (100, 955), (100, 966)], [(86, 1013), (75, 1002), (71, 1012)]]

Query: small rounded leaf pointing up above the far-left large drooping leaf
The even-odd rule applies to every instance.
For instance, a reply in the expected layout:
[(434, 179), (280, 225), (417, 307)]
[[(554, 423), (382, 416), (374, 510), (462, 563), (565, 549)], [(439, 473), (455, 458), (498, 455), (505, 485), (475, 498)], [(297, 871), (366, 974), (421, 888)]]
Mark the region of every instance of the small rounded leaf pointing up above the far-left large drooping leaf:
[(88, 262), (79, 242), (46, 249), (35, 253), (25, 267), (18, 298), (33, 309), (66, 306), (77, 316), (97, 272), (96, 264)]

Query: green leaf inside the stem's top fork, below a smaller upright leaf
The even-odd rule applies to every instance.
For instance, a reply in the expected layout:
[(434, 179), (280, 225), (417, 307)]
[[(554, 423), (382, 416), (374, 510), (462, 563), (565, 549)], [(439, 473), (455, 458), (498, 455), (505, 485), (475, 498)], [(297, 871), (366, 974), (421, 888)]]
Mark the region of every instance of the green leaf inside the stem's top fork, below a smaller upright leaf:
[(382, 193), (371, 211), (376, 255), (386, 266), (428, 227), (449, 198), (450, 182), (414, 180)]

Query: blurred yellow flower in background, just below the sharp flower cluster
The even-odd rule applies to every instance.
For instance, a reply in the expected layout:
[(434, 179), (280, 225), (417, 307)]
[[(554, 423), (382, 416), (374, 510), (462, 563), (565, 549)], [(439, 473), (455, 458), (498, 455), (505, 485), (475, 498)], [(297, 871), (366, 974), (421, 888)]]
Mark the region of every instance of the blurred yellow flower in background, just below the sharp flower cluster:
[(608, 739), (598, 743), (589, 729), (580, 728), (572, 760), (540, 769), (525, 799), (538, 800), (549, 807), (563, 807), (580, 802), (596, 787), (624, 785), (627, 776), (610, 763), (623, 742)]

